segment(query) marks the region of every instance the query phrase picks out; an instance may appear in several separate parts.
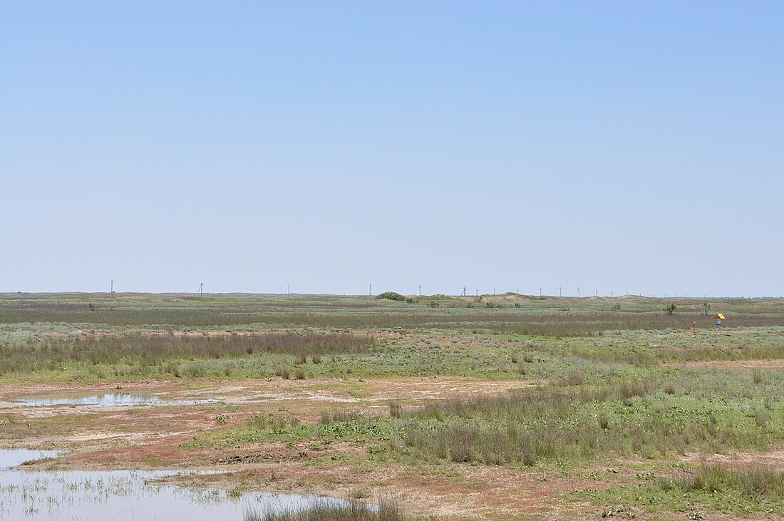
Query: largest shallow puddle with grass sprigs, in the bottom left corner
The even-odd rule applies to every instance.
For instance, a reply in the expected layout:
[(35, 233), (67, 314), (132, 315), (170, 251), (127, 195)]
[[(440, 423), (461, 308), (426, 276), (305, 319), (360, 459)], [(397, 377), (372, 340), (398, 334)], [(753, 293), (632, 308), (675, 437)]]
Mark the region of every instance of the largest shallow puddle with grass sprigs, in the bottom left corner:
[[(245, 512), (300, 508), (314, 501), (345, 500), (301, 494), (245, 493), (155, 484), (168, 471), (7, 470), (51, 451), (0, 450), (0, 519), (52, 521), (152, 521), (156, 519), (236, 519)], [(187, 474), (187, 473), (186, 473)]]

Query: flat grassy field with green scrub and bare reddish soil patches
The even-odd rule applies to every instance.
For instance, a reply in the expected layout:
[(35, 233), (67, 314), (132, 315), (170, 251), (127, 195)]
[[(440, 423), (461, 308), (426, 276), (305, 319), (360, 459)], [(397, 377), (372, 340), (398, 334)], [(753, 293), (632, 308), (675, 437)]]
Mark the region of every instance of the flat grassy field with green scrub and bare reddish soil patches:
[[(200, 478), (227, 488), (400, 493), (409, 517), (784, 513), (781, 300), (409, 300), (2, 295), (0, 400), (218, 402), (181, 418), (11, 405), (0, 442), (66, 447), (75, 468), (227, 467)], [(139, 441), (114, 461), (107, 431)]]

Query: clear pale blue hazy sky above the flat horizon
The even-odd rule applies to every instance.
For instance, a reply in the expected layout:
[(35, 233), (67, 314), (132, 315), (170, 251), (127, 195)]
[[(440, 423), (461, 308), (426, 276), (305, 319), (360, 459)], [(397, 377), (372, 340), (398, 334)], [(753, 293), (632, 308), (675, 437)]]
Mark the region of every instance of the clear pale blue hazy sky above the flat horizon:
[(0, 291), (784, 295), (782, 2), (2, 2)]

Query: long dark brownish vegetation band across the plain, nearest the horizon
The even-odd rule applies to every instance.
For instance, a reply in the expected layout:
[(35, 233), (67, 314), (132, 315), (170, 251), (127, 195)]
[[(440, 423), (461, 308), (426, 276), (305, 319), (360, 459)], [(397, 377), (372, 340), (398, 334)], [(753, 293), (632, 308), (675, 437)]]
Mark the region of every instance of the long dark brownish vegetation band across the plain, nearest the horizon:
[[(373, 313), (367, 309), (307, 310), (299, 306), (281, 309), (252, 311), (244, 307), (216, 308), (158, 308), (140, 307), (116, 309), (96, 306), (91, 311), (86, 304), (43, 304), (35, 307), (17, 307), (7, 304), (0, 308), (0, 323), (65, 323), (105, 324), (107, 326), (142, 326), (157, 324), (162, 327), (218, 327), (265, 324), (270, 327), (332, 327), (338, 329), (391, 328), (452, 329), (486, 331), (517, 335), (583, 336), (601, 331), (688, 329), (695, 321), (699, 328), (715, 327), (711, 317), (703, 313), (676, 313), (673, 316), (661, 311), (642, 313), (604, 312), (579, 313), (564, 311), (554, 313), (528, 309), (465, 309), (426, 308), (405, 306), (407, 309), (383, 309)], [(784, 326), (784, 317), (778, 314), (736, 314), (725, 322), (729, 327)]]

